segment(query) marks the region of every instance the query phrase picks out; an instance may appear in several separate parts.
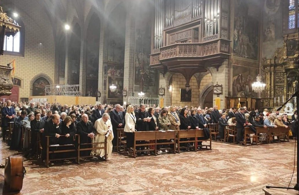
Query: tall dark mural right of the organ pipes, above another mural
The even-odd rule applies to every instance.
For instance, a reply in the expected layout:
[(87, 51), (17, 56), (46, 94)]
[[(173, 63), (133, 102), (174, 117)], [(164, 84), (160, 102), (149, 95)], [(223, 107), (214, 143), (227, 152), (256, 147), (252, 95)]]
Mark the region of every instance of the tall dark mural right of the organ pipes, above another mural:
[(246, 0), (235, 1), (234, 56), (257, 60), (259, 12)]

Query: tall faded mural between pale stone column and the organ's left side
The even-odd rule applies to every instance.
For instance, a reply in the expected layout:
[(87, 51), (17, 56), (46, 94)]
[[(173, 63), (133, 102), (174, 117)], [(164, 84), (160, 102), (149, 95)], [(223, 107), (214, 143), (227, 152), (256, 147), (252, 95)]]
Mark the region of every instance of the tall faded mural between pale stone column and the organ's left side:
[(152, 4), (143, 1), (145, 4), (138, 10), (135, 19), (135, 93), (143, 91), (151, 95), (157, 94), (158, 73), (149, 67), (149, 54), (151, 50), (151, 22)]

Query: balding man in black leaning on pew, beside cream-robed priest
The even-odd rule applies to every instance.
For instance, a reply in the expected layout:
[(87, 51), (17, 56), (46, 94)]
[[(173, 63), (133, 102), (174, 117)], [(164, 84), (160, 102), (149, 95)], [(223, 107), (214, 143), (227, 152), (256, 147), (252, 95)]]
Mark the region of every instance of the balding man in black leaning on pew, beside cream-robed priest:
[[(92, 141), (92, 138), (96, 134), (96, 130), (94, 129), (94, 125), (88, 121), (87, 114), (83, 114), (81, 117), (81, 121), (76, 125), (77, 133), (80, 134), (80, 143), (81, 144), (89, 144)], [(91, 145), (81, 145), (80, 148), (90, 148)], [(90, 155), (91, 150), (80, 151), (81, 156)]]

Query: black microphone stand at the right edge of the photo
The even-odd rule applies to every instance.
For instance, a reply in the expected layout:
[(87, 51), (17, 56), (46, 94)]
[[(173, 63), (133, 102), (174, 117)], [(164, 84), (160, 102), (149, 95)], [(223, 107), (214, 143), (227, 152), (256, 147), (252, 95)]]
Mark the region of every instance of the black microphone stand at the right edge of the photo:
[[(288, 100), (286, 100), (286, 102), (284, 102), (283, 105), (280, 106), (277, 110), (281, 110), (281, 108), (283, 108), (283, 106), (286, 105), (286, 103), (288, 103), (295, 96), (297, 97), (297, 99), (299, 98), (299, 91), (296, 91), (292, 95), (292, 97), (290, 97)], [(298, 113), (298, 110), (299, 110), (298, 107), (299, 106), (298, 106), (298, 102), (297, 102), (297, 113)], [(297, 129), (296, 140), (297, 140), (297, 142), (298, 142), (298, 134), (299, 134), (299, 132), (298, 132), (298, 124), (299, 123), (298, 123), (298, 114), (297, 114), (297, 120), (296, 120), (296, 129)], [(296, 144), (296, 140), (295, 140), (295, 144)], [(299, 145), (297, 143), (297, 182), (296, 182), (295, 186), (293, 188), (289, 188), (289, 187), (277, 187), (277, 186), (269, 186), (269, 185), (267, 185), (266, 188), (293, 189), (293, 190), (298, 190), (299, 191), (299, 184), (298, 184), (298, 182), (299, 182), (299, 169), (298, 169), (298, 166), (299, 166), (299, 163), (298, 163), (299, 162), (299, 153), (298, 153), (298, 151), (299, 151)]]

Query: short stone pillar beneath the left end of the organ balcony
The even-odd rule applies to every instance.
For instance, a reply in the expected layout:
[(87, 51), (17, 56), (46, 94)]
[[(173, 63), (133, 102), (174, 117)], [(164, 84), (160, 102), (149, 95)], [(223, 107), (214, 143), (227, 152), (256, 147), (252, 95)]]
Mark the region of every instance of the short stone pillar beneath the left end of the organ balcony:
[(165, 94), (163, 96), (164, 98), (164, 106), (171, 106), (172, 102), (172, 89), (168, 89), (167, 87), (169, 86), (169, 81), (171, 79), (172, 74), (167, 72), (164, 76), (162, 73), (159, 73), (159, 88), (162, 86), (165, 88)]

